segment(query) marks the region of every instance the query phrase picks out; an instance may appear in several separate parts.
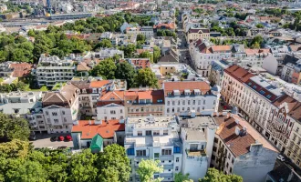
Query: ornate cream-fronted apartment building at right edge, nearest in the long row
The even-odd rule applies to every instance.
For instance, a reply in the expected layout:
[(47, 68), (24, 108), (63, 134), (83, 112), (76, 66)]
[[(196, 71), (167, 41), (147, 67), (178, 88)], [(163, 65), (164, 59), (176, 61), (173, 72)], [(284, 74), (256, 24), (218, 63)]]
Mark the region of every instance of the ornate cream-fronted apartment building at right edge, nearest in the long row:
[(265, 131), (265, 137), (298, 167), (301, 166), (300, 116), (301, 103), (291, 96), (281, 96), (273, 102)]

